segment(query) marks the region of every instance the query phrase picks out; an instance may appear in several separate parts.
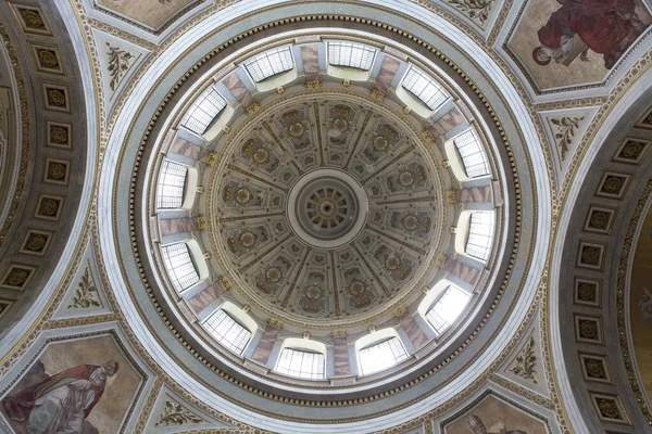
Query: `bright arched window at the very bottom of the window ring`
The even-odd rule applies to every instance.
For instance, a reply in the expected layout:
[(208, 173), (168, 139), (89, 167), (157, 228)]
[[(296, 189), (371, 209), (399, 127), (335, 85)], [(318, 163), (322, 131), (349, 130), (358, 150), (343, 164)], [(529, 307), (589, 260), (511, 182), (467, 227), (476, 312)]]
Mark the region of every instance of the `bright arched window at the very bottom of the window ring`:
[[(315, 363), (318, 361), (321, 361), (321, 369)], [(300, 362), (299, 367), (297, 362)], [(305, 369), (305, 363), (310, 363), (310, 369)], [(325, 380), (326, 345), (306, 339), (288, 337), (283, 342), (274, 370), (303, 380)]]

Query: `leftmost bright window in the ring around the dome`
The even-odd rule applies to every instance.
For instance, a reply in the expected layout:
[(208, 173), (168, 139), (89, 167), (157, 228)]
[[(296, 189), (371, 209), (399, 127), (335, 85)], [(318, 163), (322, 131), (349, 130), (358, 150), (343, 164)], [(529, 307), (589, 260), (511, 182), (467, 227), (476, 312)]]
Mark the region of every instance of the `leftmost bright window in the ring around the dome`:
[(199, 174), (195, 167), (164, 158), (156, 182), (156, 209), (192, 208), (198, 179)]

